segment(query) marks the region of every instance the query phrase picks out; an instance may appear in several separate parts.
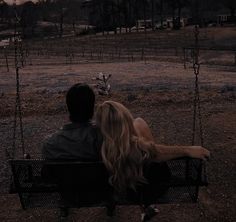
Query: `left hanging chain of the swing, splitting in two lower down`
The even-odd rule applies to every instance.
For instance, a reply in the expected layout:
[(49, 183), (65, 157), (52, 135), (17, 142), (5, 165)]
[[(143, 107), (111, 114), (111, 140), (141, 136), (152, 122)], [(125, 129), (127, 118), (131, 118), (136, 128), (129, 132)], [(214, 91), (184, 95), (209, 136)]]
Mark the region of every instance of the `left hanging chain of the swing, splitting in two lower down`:
[(20, 140), (22, 148), (22, 156), (25, 155), (25, 142), (24, 142), (24, 133), (23, 133), (23, 123), (22, 123), (22, 107), (21, 107), (21, 97), (20, 97), (20, 75), (19, 75), (19, 56), (21, 56), (22, 48), (19, 48), (19, 40), (17, 36), (17, 24), (19, 23), (19, 17), (17, 16), (17, 11), (15, 7), (15, 29), (14, 29), (14, 57), (15, 57), (15, 70), (16, 70), (16, 100), (15, 100), (15, 115), (13, 123), (13, 144), (12, 152), (8, 152), (8, 157), (14, 159), (15, 150), (16, 150), (16, 128), (17, 128), (17, 117), (19, 117), (20, 124)]

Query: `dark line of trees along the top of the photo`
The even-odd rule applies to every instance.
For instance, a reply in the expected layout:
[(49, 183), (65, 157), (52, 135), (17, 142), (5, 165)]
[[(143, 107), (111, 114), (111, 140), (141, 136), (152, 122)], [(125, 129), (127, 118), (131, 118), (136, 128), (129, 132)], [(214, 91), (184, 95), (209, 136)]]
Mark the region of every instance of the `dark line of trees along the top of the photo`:
[[(221, 9), (230, 13), (235, 21), (235, 0), (39, 0), (28, 1), (20, 6), (7, 5), (0, 0), (0, 22), (13, 26), (16, 12), (23, 37), (26, 30), (33, 36), (38, 21), (55, 24), (59, 36), (64, 33), (64, 24), (75, 30), (79, 21), (86, 21), (97, 31), (121, 32), (136, 26), (137, 20), (151, 20), (151, 28), (158, 21), (163, 26), (165, 17), (170, 16), (175, 29), (180, 28), (182, 16), (191, 17), (193, 24), (202, 24), (207, 14)], [(144, 25), (146, 30), (147, 25)]]

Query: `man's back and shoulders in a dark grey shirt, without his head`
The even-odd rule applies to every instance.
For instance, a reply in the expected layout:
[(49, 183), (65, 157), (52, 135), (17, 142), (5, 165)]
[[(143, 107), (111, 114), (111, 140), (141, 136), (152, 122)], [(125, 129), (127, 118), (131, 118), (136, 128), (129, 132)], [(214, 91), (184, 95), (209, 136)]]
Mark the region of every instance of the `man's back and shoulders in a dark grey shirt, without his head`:
[(47, 138), (43, 145), (45, 159), (101, 159), (102, 135), (92, 123), (70, 123)]

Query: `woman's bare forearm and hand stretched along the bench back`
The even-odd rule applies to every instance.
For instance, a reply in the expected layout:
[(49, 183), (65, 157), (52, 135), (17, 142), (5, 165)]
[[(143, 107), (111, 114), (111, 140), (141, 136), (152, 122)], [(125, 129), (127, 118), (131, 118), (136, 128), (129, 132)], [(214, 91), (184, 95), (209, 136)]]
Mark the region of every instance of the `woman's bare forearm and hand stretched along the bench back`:
[(201, 146), (166, 146), (152, 142), (144, 142), (144, 148), (150, 153), (150, 160), (165, 162), (180, 157), (191, 157), (207, 160), (210, 152)]

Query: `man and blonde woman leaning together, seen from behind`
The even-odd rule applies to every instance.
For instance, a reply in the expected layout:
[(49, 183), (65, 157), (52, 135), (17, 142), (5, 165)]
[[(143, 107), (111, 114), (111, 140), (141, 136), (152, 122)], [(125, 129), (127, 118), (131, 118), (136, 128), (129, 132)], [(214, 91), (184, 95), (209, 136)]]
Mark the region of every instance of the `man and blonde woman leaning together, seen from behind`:
[(205, 160), (209, 151), (201, 146), (166, 146), (155, 143), (142, 118), (134, 119), (121, 103), (105, 101), (94, 115), (95, 94), (86, 84), (72, 86), (66, 95), (71, 123), (44, 142), (43, 158), (102, 160), (110, 182), (122, 192), (145, 183), (143, 166), (179, 157)]

